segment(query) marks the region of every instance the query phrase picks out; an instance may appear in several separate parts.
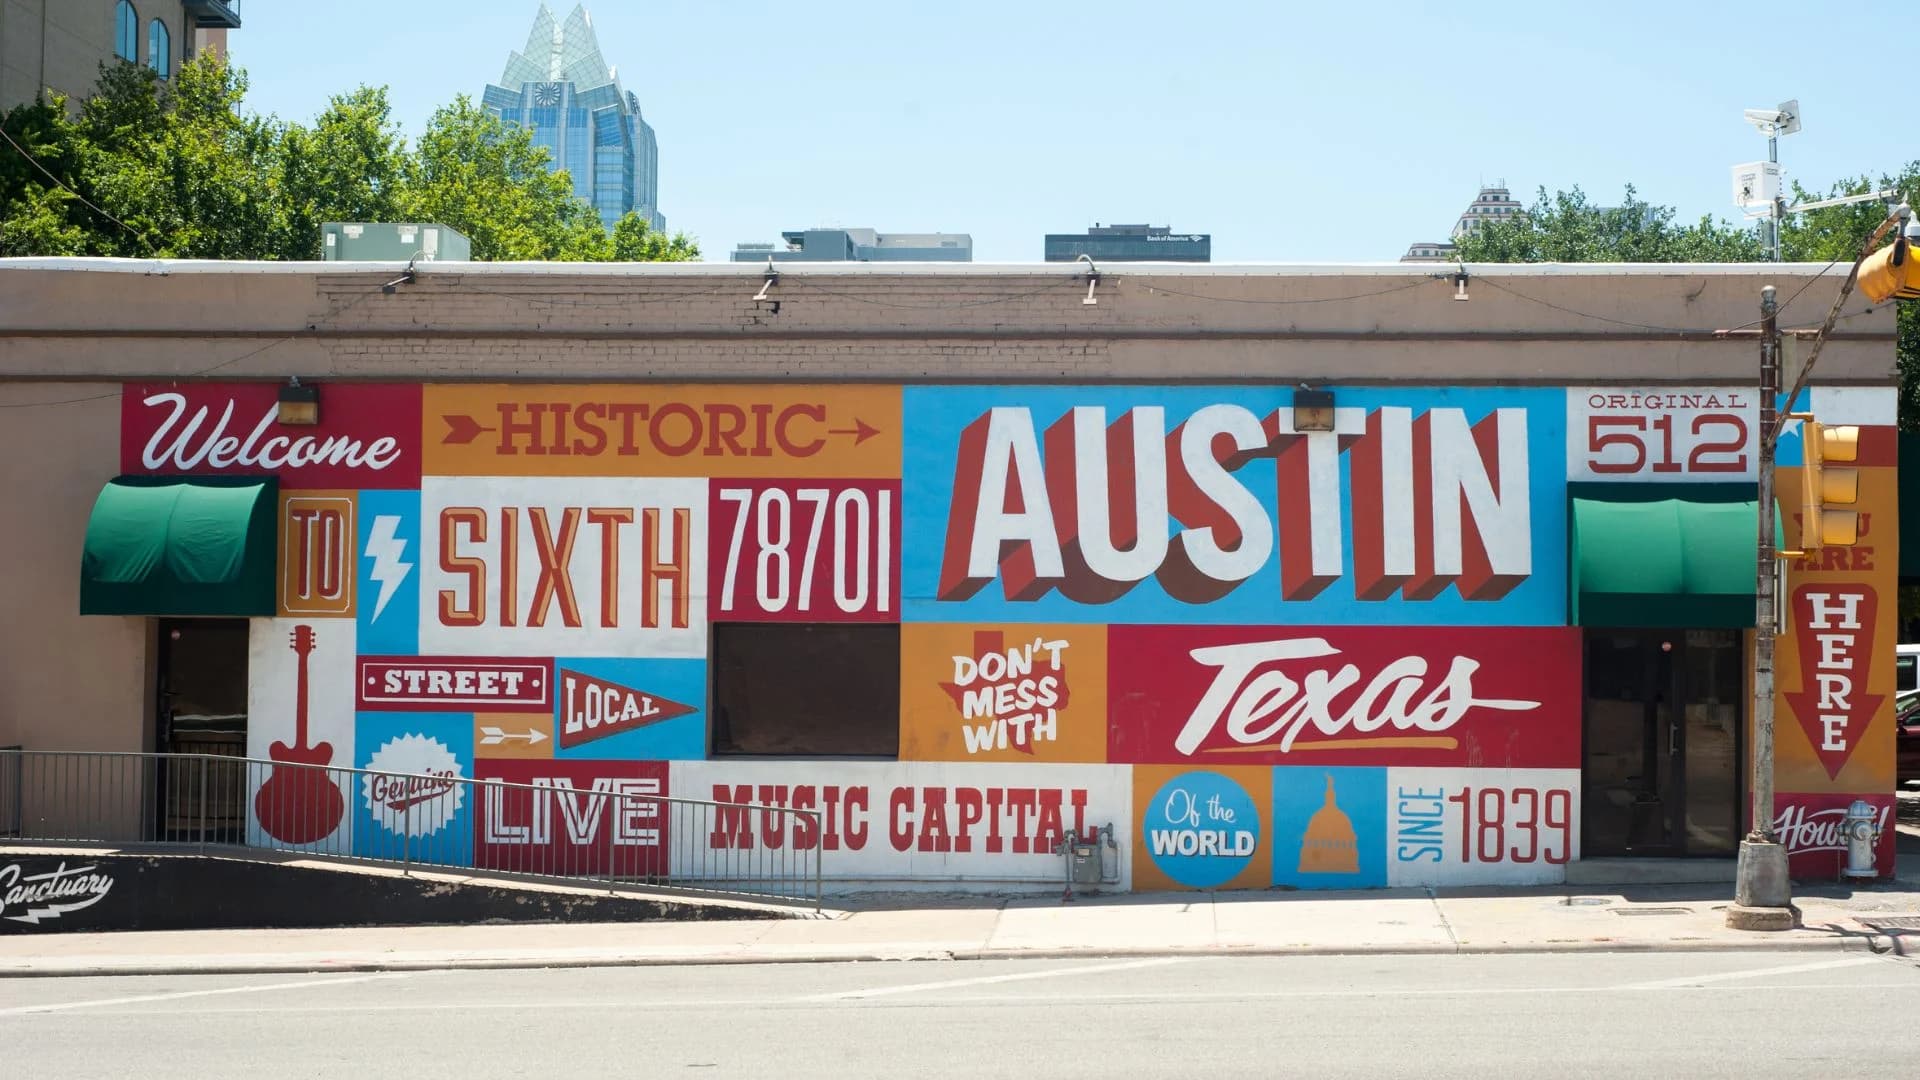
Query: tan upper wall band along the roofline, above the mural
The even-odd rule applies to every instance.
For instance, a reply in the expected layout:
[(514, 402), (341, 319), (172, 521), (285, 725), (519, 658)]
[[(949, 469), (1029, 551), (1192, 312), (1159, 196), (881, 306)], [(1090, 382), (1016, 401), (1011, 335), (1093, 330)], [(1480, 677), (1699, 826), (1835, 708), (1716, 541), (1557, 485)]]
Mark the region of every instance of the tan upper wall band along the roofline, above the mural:
[[(1818, 325), (1820, 265), (1430, 269), (0, 259), (0, 379), (881, 379), (1743, 382), (1761, 284)], [(92, 263), (100, 267), (102, 263)], [(1578, 271), (1578, 273), (1572, 273)], [(1736, 329), (1732, 336), (1720, 331)], [(1826, 382), (1893, 375), (1891, 309), (1853, 298)]]

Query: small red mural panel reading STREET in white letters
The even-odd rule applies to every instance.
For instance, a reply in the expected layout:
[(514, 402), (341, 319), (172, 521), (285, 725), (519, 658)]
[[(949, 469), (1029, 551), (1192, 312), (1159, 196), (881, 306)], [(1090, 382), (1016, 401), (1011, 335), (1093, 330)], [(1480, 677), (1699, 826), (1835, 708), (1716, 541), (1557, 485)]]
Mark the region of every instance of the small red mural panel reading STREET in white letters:
[(553, 663), (363, 655), (353, 678), (353, 707), (363, 713), (551, 713)]

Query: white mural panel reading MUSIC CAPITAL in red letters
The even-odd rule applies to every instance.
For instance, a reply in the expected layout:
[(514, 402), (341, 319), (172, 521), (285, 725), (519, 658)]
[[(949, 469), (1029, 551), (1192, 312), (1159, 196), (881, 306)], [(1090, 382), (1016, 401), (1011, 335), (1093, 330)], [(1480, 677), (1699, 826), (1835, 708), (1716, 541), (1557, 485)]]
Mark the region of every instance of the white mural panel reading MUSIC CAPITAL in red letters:
[[(841, 884), (1064, 884), (1066, 859), (1050, 849), (1052, 838), (1108, 824), (1119, 872), (1108, 888), (1127, 890), (1133, 880), (1127, 765), (674, 761), (670, 790), (676, 799), (822, 811), (822, 876)], [(785, 815), (718, 819), (710, 807), (676, 803), (674, 874), (778, 867), (795, 849), (791, 824)], [(810, 847), (803, 836), (799, 849)]]

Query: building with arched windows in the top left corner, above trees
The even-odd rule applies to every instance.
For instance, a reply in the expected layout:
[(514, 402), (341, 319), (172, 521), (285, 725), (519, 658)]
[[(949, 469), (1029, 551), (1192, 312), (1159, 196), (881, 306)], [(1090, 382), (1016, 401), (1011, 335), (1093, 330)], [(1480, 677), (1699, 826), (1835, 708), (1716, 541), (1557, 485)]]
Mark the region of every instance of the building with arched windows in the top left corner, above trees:
[(202, 52), (227, 52), (240, 29), (238, 0), (4, 0), (0, 2), (0, 110), (58, 90), (79, 102), (100, 65), (146, 63), (161, 79)]

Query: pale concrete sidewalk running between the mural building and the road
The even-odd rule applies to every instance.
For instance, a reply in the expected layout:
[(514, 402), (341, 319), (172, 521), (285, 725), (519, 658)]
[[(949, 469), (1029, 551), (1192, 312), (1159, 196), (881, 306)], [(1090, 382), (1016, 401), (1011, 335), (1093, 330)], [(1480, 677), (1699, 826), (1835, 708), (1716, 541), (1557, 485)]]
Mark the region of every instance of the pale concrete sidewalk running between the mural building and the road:
[(820, 917), (342, 930), (19, 934), (0, 976), (419, 970), (1179, 953), (1878, 949), (1920, 938), (1920, 880), (1803, 888), (1801, 928), (1728, 930), (1726, 886), (870, 896)]

